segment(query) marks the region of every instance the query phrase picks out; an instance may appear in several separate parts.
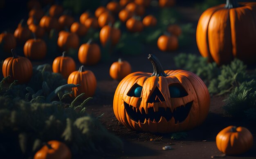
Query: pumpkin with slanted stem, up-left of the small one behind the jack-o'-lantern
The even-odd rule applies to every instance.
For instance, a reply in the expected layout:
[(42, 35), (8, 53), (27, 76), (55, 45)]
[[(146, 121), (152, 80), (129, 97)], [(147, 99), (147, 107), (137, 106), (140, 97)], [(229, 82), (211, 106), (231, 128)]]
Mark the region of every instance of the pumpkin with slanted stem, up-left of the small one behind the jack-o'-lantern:
[(91, 39), (82, 44), (78, 51), (79, 62), (84, 65), (95, 65), (101, 59), (101, 49), (97, 44), (91, 44)]

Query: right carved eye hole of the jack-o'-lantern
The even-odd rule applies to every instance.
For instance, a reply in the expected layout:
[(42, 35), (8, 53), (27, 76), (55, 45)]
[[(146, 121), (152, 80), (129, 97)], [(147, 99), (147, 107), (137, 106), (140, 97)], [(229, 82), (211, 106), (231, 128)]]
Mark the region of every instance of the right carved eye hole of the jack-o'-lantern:
[(169, 85), (169, 91), (171, 98), (181, 98), (189, 95), (180, 83), (172, 83)]

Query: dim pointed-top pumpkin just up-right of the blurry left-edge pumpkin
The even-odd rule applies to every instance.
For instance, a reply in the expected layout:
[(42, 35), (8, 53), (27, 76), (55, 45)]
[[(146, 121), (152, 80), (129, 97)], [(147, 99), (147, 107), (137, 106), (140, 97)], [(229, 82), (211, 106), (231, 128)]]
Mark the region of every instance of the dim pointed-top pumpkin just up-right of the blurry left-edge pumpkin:
[(18, 24), (18, 27), (16, 28), (16, 30), (14, 31), (14, 37), (16, 37), (16, 39), (18, 39), (20, 42), (24, 42), (27, 41), (27, 39), (30, 38), (31, 36), (31, 31), (29, 30), (29, 28), (24, 25), (24, 20), (22, 19), (20, 21), (20, 23)]

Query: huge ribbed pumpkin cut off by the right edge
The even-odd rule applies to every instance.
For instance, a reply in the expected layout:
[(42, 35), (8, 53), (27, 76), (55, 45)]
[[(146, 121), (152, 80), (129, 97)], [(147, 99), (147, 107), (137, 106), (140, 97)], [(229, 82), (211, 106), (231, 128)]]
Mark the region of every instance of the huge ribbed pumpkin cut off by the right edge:
[(235, 8), (226, 8), (225, 4), (211, 7), (198, 21), (198, 49), (203, 57), (218, 65), (227, 64), (234, 58), (255, 63), (256, 2), (239, 4)]

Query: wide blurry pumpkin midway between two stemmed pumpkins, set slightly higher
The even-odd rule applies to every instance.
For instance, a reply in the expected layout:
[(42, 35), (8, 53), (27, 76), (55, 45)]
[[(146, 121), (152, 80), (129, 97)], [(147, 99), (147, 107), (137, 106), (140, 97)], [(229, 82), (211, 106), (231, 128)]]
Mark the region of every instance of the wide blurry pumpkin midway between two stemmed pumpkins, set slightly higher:
[(70, 48), (75, 49), (79, 47), (79, 37), (76, 33), (60, 31), (57, 44), (62, 50), (68, 50)]

